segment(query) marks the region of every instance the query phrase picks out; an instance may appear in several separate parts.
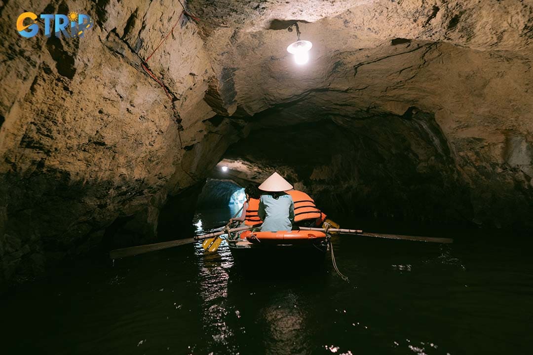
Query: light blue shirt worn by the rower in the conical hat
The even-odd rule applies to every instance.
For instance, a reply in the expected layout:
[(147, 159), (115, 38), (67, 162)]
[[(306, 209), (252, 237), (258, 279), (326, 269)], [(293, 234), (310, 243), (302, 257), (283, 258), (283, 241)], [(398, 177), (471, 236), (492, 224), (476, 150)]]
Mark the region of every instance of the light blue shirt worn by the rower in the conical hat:
[(294, 202), (288, 194), (274, 199), (271, 195), (261, 195), (259, 218), (263, 221), (261, 232), (291, 230), (294, 223)]

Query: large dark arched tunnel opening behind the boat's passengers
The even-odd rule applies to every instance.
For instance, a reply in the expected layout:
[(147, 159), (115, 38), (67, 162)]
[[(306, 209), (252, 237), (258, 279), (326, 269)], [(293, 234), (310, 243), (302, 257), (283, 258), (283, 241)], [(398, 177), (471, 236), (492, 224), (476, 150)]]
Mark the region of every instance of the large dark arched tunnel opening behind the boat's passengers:
[[(351, 228), (383, 226), (384, 221), (406, 228), (465, 224), (470, 206), (433, 114), (409, 108), (400, 115), (343, 117), (300, 108), (296, 104), (255, 115), (255, 129), (228, 148), (212, 177), (246, 186), (277, 171)], [(300, 122), (282, 126), (295, 111)]]

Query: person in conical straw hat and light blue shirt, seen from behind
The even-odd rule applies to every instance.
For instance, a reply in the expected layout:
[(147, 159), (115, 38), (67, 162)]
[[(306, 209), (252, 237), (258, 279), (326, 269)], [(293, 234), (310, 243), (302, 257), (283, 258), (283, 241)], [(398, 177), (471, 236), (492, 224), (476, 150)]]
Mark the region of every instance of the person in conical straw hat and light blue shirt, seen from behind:
[(259, 200), (259, 218), (263, 221), (261, 232), (292, 230), (294, 223), (294, 202), (286, 190), (293, 186), (274, 172), (264, 180), (259, 189), (265, 192)]

